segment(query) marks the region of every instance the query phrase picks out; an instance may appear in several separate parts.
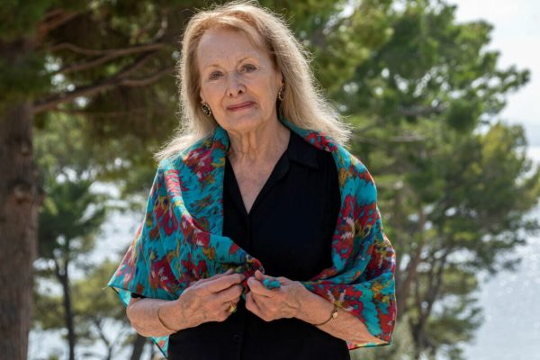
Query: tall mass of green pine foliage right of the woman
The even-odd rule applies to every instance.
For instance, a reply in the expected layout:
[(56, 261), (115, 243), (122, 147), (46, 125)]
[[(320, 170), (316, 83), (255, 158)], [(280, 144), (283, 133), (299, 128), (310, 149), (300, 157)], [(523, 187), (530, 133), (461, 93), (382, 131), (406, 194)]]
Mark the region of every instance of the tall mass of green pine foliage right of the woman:
[(500, 69), (490, 24), (456, 23), (445, 2), (403, 4), (387, 10), (391, 39), (332, 94), (377, 182), (412, 357), (460, 359), (482, 322), (479, 275), (515, 268), (513, 250), (539, 227), (523, 129), (487, 120), (529, 73)]

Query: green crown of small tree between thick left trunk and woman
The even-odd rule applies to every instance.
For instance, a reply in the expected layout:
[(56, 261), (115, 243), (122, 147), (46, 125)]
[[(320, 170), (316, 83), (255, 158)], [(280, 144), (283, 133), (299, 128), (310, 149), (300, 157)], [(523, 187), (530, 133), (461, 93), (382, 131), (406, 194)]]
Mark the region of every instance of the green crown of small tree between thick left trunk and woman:
[[(94, 165), (79, 118), (59, 116), (35, 141), (46, 196), (40, 211), (39, 257), (71, 261), (94, 247), (105, 219), (105, 197), (91, 191)], [(57, 251), (57, 253), (55, 253)]]

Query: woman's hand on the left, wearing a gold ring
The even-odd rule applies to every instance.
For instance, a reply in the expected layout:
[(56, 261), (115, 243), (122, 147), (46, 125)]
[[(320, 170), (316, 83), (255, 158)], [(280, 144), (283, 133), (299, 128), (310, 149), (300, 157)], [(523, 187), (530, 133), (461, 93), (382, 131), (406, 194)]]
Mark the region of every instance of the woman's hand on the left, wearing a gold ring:
[(240, 283), (244, 278), (229, 269), (226, 273), (190, 284), (175, 301), (181, 318), (189, 320), (191, 327), (208, 321), (227, 320), (231, 314), (230, 304), (236, 305), (240, 299), (243, 290)]

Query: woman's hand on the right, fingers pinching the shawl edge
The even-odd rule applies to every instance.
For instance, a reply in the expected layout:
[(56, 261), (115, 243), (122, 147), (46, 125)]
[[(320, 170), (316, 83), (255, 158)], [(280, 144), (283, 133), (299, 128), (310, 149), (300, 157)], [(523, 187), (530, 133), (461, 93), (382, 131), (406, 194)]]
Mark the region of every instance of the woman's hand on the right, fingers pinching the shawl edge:
[[(262, 284), (265, 279), (275, 279), (281, 287), (268, 290)], [(263, 275), (257, 270), (255, 277), (247, 279), (247, 285), (250, 291), (246, 294), (246, 309), (262, 320), (295, 318), (302, 311), (301, 300), (307, 289), (300, 282)]]

